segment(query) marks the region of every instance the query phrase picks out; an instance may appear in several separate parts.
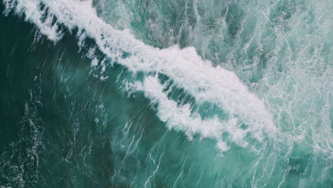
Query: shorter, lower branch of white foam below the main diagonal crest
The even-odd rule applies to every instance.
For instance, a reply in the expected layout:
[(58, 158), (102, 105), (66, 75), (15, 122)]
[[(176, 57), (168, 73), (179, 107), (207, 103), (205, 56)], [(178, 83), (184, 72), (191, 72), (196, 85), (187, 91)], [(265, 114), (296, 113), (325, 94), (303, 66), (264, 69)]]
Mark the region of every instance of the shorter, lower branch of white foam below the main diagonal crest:
[[(159, 83), (159, 79), (155, 76), (147, 77), (143, 83), (135, 83), (129, 86), (132, 90), (142, 90), (152, 103), (157, 104), (157, 115), (159, 119), (166, 122), (166, 126), (171, 130), (181, 130), (186, 133), (189, 140), (192, 140), (194, 134), (199, 133), (201, 138), (213, 138), (217, 140), (218, 148), (221, 151), (228, 150), (228, 145), (223, 141), (223, 132), (228, 132), (228, 140), (236, 143), (241, 147), (246, 147), (248, 142), (245, 136), (250, 132), (255, 132), (251, 128), (243, 130), (239, 127), (237, 118), (228, 120), (220, 120), (218, 117), (203, 120), (199, 113), (191, 113), (190, 105), (178, 106), (174, 100), (169, 100), (167, 93), (163, 92), (165, 86)], [(258, 133), (258, 132), (257, 132)], [(260, 134), (255, 135), (258, 136)], [(257, 137), (260, 139), (260, 137)]]

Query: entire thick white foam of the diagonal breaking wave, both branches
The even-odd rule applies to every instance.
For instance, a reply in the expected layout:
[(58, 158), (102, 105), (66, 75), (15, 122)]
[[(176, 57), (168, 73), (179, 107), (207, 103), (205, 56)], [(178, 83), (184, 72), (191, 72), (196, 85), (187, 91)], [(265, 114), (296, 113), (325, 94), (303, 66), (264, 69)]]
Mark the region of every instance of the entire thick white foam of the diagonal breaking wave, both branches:
[[(228, 146), (222, 142), (221, 132), (229, 132), (233, 142), (245, 147), (245, 135), (249, 132), (257, 140), (263, 138), (263, 132), (274, 132), (273, 117), (263, 102), (240, 83), (231, 71), (213, 67), (210, 61), (203, 60), (194, 48), (179, 49), (172, 46), (166, 49), (147, 46), (134, 38), (129, 31), (119, 31), (97, 16), (92, 1), (70, 0), (4, 0), (5, 14), (11, 9), (16, 14), (25, 14), (26, 21), (34, 23), (41, 33), (52, 41), (62, 37), (59, 24), (70, 31), (78, 28), (79, 46), (85, 37), (93, 38), (100, 51), (112, 61), (126, 66), (132, 73), (143, 72), (144, 83), (134, 83), (135, 90), (144, 92), (147, 98), (159, 105), (159, 118), (177, 130), (184, 130), (189, 137), (198, 132), (203, 137), (218, 140), (221, 150)], [(124, 52), (129, 56), (124, 57)], [(214, 103), (226, 110), (228, 120), (202, 120), (199, 114), (191, 115), (191, 109), (178, 107), (163, 93), (164, 87), (157, 78), (148, 73), (167, 75), (179, 88), (194, 96), (196, 103)], [(170, 115), (170, 112), (178, 112)], [(175, 116), (176, 115), (176, 116)], [(245, 123), (248, 130), (241, 130), (234, 124)]]

